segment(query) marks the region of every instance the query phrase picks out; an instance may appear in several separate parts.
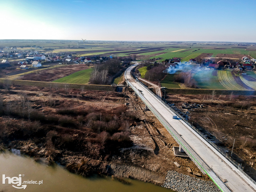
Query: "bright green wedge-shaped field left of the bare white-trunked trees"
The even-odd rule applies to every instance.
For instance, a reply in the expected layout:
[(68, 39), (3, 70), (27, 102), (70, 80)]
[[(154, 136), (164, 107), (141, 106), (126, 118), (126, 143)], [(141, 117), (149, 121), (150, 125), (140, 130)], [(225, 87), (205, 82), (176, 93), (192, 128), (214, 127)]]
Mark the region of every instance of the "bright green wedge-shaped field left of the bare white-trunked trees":
[(93, 68), (82, 70), (75, 72), (67, 77), (62, 77), (52, 82), (57, 83), (78, 83), (78, 84), (86, 84), (89, 82), (91, 72)]

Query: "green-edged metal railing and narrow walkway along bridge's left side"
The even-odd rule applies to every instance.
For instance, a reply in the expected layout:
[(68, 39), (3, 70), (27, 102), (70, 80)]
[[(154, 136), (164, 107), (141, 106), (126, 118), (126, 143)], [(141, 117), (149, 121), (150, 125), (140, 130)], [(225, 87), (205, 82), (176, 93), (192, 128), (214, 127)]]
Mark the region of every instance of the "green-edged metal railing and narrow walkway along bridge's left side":
[[(157, 119), (161, 122), (161, 124), (165, 127), (165, 129), (173, 136), (173, 138), (175, 139), (175, 141), (182, 146), (183, 150), (186, 151), (186, 153), (188, 154), (188, 156), (191, 158), (191, 160), (200, 167), (200, 169), (202, 169), (211, 179), (212, 181), (217, 185), (217, 187), (222, 191), (222, 192), (230, 192), (230, 190), (226, 187), (226, 185), (221, 182), (221, 180), (214, 180), (214, 177), (216, 177), (216, 174), (214, 174), (214, 172), (209, 171), (208, 167), (206, 167), (207, 165), (202, 164), (201, 162), (203, 162), (202, 159), (199, 159), (200, 157), (193, 151), (193, 149), (189, 149), (189, 146), (187, 146), (187, 144), (185, 143), (185, 141), (181, 141), (179, 139), (180, 135), (175, 132), (175, 130), (171, 130), (169, 127), (172, 127), (171, 125), (169, 125), (169, 123), (164, 120), (161, 115), (155, 111), (150, 105), (147, 104), (147, 102), (145, 101), (143, 95), (129, 82), (126, 81), (127, 84), (134, 90), (134, 92), (141, 98), (141, 100), (147, 105), (147, 107), (151, 110), (151, 112), (157, 117)], [(198, 156), (198, 157), (197, 157)]]

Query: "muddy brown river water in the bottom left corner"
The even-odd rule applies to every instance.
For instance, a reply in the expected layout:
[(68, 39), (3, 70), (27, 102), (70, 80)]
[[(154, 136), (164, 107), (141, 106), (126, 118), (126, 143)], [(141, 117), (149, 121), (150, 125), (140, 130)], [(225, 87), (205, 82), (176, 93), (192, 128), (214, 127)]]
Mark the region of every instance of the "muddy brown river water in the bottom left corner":
[[(3, 174), (6, 177), (18, 177), (24, 181), (42, 181), (42, 184), (26, 184), (24, 189), (14, 188), (8, 184), (8, 179), (5, 179), (3, 184)], [(19, 178), (19, 174), (21, 175)], [(127, 179), (130, 184), (123, 184), (117, 180), (112, 180), (110, 176), (95, 176), (84, 178), (82, 176), (70, 173), (60, 165), (47, 166), (43, 163), (37, 163), (33, 158), (27, 156), (18, 156), (11, 152), (0, 153), (0, 191), (40, 191), (40, 192), (119, 192), (119, 191), (133, 191), (133, 192), (173, 192), (170, 189), (156, 186), (152, 183), (146, 183), (134, 179)], [(21, 184), (22, 187), (23, 184)]]

